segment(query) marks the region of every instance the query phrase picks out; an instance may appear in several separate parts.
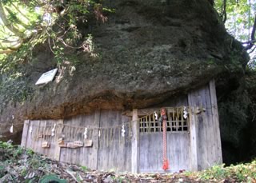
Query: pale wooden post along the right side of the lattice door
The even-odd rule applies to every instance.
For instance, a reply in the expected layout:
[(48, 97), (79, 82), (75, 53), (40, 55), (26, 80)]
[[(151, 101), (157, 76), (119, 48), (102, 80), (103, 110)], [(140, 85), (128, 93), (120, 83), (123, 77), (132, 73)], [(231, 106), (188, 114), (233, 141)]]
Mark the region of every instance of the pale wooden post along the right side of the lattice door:
[(190, 113), (190, 170), (198, 171), (198, 137), (197, 137), (197, 120), (194, 113), (195, 107), (189, 109)]

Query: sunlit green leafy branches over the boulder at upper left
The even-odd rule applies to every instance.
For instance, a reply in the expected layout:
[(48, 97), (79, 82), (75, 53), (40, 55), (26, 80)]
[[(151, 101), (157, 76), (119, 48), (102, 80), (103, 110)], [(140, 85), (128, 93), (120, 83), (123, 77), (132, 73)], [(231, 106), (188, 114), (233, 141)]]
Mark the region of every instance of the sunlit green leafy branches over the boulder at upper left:
[[(22, 36), (15, 31), (8, 30), (4, 33), (0, 29), (1, 38), (10, 38), (10, 34), (14, 34), (16, 38), (15, 46), (18, 46), (18, 52), (6, 58), (2, 56), (2, 70), (13, 70), (16, 63), (30, 62), (32, 50), (38, 43), (46, 42), (50, 46), (50, 50), (54, 54), (54, 58), (58, 64), (63, 61), (70, 61), (69, 55), (66, 52), (71, 50), (92, 50), (92, 43), (88, 45), (90, 35), (82, 33), (78, 30), (78, 24), (86, 23), (92, 15), (99, 21), (106, 22), (106, 17), (103, 12), (114, 12), (101, 3), (96, 3), (93, 0), (84, 1), (2, 1), (3, 8), (6, 11), (7, 21), (12, 23), (15, 28), (22, 32)], [(23, 10), (24, 9), (24, 10)], [(3, 24), (2, 28), (6, 28), (7, 24)], [(16, 31), (17, 32), (17, 31)], [(17, 48), (11, 48), (8, 39), (8, 44), (3, 45), (0, 42), (0, 53), (8, 53)], [(90, 40), (91, 41), (91, 40)], [(2, 46), (2, 47), (1, 47)], [(22, 47), (20, 47), (22, 46)], [(87, 47), (88, 46), (88, 47)], [(7, 62), (11, 62), (8, 64)]]

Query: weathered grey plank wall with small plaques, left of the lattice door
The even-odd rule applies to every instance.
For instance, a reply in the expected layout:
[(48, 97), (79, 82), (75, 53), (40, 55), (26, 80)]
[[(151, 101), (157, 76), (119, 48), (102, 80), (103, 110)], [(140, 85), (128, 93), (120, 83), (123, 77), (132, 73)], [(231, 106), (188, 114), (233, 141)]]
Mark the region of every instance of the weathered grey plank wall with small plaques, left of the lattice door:
[[(129, 129), (126, 125), (126, 137), (121, 136), (122, 124), (131, 121), (131, 117), (122, 116), (120, 111), (101, 110), (88, 115), (81, 115), (62, 120), (25, 121), (22, 146), (34, 149), (51, 159), (85, 165), (90, 169), (114, 169), (116, 171), (131, 170)], [(64, 128), (56, 129), (51, 136), (54, 124), (62, 123)], [(116, 125), (119, 125), (116, 128)], [(30, 127), (32, 126), (32, 133)], [(82, 128), (74, 128), (79, 126)], [(90, 126), (90, 127), (89, 127)], [(113, 126), (113, 129), (111, 129)], [(84, 141), (83, 133), (88, 127), (88, 137), (93, 141), (92, 147), (60, 148), (58, 137), (64, 141)], [(100, 128), (100, 129), (98, 129)], [(102, 128), (102, 129), (101, 129)], [(98, 136), (98, 133), (101, 133)], [(44, 134), (44, 137), (40, 137)], [(50, 148), (42, 148), (42, 142), (50, 142)]]

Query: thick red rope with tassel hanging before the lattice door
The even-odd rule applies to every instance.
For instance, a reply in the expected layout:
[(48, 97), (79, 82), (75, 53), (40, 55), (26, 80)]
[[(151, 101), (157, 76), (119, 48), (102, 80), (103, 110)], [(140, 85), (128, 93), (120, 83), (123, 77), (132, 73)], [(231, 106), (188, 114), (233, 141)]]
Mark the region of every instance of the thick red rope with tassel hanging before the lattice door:
[(162, 169), (167, 170), (169, 169), (169, 161), (167, 159), (167, 144), (166, 144), (166, 109), (161, 109), (161, 117), (162, 117), (162, 144), (163, 144), (163, 150), (162, 150)]

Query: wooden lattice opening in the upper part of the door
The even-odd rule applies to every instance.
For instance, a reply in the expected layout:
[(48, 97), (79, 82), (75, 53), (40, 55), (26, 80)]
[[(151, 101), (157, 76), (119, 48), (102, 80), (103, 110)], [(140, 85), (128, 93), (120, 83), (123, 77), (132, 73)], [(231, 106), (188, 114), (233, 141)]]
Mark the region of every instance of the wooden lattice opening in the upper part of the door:
[[(186, 111), (188, 108), (186, 107)], [(158, 117), (160, 117), (160, 110), (157, 111)], [(170, 107), (166, 108), (166, 125), (167, 132), (184, 132), (189, 130), (189, 117), (184, 117), (184, 107)], [(140, 133), (152, 133), (152, 132), (162, 132), (162, 123), (155, 120), (154, 113), (141, 117), (138, 119), (139, 132)]]

